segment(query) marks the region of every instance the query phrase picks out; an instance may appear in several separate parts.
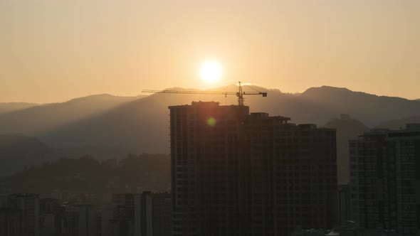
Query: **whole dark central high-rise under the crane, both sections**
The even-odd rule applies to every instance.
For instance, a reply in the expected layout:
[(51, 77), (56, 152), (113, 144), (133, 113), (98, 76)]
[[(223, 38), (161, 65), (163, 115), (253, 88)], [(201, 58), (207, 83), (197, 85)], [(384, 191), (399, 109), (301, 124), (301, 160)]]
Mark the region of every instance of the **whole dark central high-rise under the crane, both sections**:
[(335, 225), (335, 129), (217, 102), (169, 109), (174, 235)]

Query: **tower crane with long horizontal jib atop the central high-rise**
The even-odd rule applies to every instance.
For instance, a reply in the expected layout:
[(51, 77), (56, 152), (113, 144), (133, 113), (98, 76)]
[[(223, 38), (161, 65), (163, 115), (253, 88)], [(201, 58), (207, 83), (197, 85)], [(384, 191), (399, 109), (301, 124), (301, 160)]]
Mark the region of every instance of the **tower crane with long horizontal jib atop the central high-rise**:
[(189, 95), (236, 95), (238, 97), (238, 105), (243, 106), (243, 95), (262, 95), (267, 97), (267, 92), (243, 92), (241, 81), (238, 82), (238, 92), (219, 92), (219, 91), (184, 91), (184, 90), (142, 90), (142, 92), (153, 93), (177, 93)]

